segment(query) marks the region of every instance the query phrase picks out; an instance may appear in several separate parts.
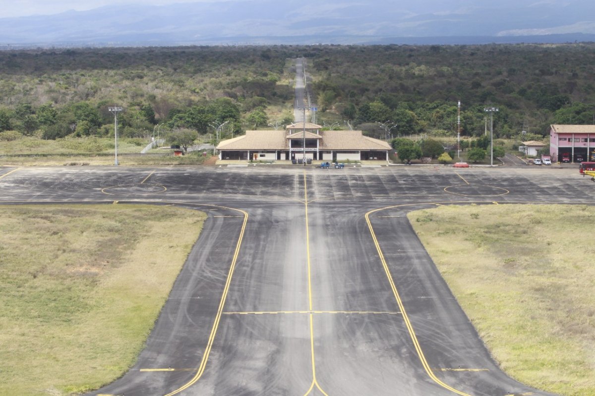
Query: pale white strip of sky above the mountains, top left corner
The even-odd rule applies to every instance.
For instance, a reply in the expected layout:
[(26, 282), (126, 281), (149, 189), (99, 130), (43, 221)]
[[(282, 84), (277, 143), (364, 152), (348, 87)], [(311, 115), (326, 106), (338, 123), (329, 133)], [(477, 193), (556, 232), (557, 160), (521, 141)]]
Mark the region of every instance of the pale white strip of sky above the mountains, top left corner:
[(74, 9), (86, 11), (110, 4), (152, 4), (215, 2), (224, 0), (0, 0), (0, 18), (50, 15)]

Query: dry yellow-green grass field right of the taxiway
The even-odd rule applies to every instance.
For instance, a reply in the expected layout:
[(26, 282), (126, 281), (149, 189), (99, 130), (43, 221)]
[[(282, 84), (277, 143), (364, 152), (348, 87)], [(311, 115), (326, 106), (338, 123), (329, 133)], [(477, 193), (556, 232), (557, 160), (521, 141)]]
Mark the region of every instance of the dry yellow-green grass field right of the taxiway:
[(509, 375), (595, 396), (595, 207), (446, 206), (409, 219)]

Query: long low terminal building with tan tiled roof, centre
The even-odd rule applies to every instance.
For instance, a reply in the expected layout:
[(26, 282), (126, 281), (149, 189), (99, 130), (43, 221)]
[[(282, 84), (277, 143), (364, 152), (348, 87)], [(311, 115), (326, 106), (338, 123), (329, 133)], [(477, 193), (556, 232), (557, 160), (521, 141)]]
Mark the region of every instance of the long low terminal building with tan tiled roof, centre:
[(220, 160), (303, 162), (361, 161), (389, 158), (392, 147), (362, 131), (322, 131), (320, 125), (297, 122), (285, 130), (246, 131), (217, 145)]

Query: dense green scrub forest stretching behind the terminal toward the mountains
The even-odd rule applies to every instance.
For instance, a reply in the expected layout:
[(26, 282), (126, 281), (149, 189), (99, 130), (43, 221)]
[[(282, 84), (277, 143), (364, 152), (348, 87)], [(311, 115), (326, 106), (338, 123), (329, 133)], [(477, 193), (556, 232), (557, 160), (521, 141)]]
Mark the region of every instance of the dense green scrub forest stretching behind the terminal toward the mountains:
[[(317, 122), (384, 137), (545, 135), (595, 123), (595, 44), (240, 46), (0, 52), (0, 138), (113, 135), (155, 129), (222, 137), (292, 122), (293, 59), (305, 57)], [(487, 120), (487, 122), (486, 122)]]

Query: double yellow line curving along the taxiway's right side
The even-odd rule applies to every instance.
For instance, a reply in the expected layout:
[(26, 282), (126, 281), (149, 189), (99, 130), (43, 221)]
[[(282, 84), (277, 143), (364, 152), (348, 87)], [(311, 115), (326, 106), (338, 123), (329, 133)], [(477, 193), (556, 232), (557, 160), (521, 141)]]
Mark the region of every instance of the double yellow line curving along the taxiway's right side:
[[(394, 208), (394, 207), (390, 207), (390, 208)], [(382, 252), (382, 249), (380, 248), (380, 242), (378, 242), (378, 239), (377, 239), (376, 234), (374, 232), (374, 228), (372, 227), (372, 223), (370, 221), (370, 215), (372, 213), (376, 213), (376, 212), (381, 211), (381, 210), (384, 210), (384, 209), (388, 209), (388, 208), (375, 209), (375, 210), (371, 210), (368, 213), (366, 213), (366, 215), (365, 215), (366, 223), (368, 224), (368, 229), (369, 229), (370, 235), (372, 236), (372, 240), (374, 240), (374, 245), (376, 246), (376, 251), (378, 252), (378, 256), (380, 256), (380, 261), (382, 262), (382, 266), (384, 268), (384, 272), (386, 273), (386, 277), (389, 280), (390, 287), (393, 290), (394, 299), (397, 301), (397, 305), (399, 305), (399, 309), (401, 311), (401, 314), (403, 315), (403, 321), (405, 321), (405, 325), (406, 325), (407, 330), (409, 332), (409, 336), (411, 337), (411, 341), (413, 341), (413, 344), (414, 344), (414, 347), (415, 347), (415, 351), (417, 351), (417, 355), (419, 357), (419, 360), (421, 362), (421, 365), (424, 367), (424, 370), (427, 373), (427, 375), (434, 382), (436, 382), (436, 384), (440, 385), (443, 388), (448, 389), (449, 391), (455, 392), (458, 395), (461, 395), (461, 396), (471, 396), (469, 394), (466, 394), (465, 392), (462, 392), (462, 391), (459, 391), (459, 390), (457, 390), (457, 389), (455, 389), (453, 387), (450, 387), (450, 385), (444, 384), (444, 382), (440, 381), (440, 379), (434, 374), (434, 372), (430, 368), (430, 365), (428, 364), (428, 361), (425, 359), (424, 351), (422, 351), (421, 346), (419, 345), (419, 341), (417, 339), (417, 335), (415, 335), (415, 331), (414, 331), (413, 325), (411, 324), (411, 321), (409, 320), (409, 316), (407, 315), (407, 312), (405, 311), (405, 305), (403, 305), (403, 301), (401, 300), (401, 297), (399, 295), (399, 291), (397, 290), (397, 287), (394, 284), (393, 276), (390, 274), (389, 265), (386, 263), (386, 259), (384, 258), (384, 254)]]

